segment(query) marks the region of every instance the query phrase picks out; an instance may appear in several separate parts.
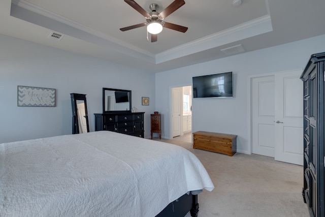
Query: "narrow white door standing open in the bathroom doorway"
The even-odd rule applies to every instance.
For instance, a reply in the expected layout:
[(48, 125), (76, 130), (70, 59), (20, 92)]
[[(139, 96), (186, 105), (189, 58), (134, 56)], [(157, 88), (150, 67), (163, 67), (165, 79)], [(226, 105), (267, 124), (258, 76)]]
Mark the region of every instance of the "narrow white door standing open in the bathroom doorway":
[(181, 89), (172, 88), (172, 135), (181, 135)]

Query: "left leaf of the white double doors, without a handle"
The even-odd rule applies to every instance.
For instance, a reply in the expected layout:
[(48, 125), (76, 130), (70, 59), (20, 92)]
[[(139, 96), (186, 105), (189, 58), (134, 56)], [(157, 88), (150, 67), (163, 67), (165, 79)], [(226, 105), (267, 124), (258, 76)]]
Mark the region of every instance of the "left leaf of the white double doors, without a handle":
[(252, 152), (274, 157), (274, 76), (252, 79)]

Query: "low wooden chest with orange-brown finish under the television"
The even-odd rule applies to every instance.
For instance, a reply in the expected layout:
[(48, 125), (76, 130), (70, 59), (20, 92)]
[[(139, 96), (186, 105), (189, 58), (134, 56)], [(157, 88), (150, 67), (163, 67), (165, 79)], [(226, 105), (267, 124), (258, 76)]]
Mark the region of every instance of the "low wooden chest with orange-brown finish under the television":
[(193, 148), (233, 156), (237, 151), (237, 135), (198, 131), (193, 133)]

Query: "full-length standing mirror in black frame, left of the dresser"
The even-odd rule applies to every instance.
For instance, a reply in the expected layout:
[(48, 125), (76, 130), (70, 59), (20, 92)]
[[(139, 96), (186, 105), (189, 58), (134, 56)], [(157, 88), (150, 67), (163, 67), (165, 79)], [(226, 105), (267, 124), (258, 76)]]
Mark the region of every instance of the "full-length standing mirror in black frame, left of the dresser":
[(72, 134), (89, 132), (85, 94), (70, 94), (72, 105)]

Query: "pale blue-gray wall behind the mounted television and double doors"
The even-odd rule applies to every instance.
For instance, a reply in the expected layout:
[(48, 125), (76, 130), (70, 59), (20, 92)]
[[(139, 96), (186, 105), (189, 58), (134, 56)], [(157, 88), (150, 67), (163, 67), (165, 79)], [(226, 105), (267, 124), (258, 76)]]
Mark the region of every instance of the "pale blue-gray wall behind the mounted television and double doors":
[(248, 153), (248, 78), (251, 75), (305, 68), (311, 54), (325, 51), (325, 35), (156, 74), (156, 110), (163, 115), (162, 137), (171, 138), (172, 87), (192, 84), (192, 77), (234, 73), (234, 98), (193, 99), (192, 132), (238, 135), (237, 151)]

